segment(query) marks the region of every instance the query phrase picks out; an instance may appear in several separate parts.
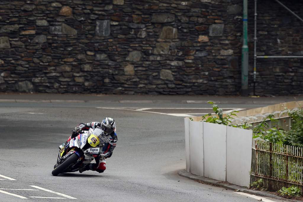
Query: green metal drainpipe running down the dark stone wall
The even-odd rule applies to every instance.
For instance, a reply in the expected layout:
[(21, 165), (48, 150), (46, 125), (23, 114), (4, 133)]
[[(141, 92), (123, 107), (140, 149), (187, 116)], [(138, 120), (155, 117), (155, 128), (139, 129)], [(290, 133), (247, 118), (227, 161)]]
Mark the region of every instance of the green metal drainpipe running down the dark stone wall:
[(241, 95), (248, 95), (247, 0), (243, 0), (243, 46), (241, 62)]

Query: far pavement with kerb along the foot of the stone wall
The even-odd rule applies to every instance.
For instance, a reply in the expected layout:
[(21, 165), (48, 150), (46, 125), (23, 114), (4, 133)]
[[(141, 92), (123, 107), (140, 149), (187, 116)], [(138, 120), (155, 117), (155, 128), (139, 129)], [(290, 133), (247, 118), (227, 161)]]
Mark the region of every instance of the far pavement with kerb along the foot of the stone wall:
[(277, 104), (303, 100), (303, 96), (241, 97), (206, 95), (106, 95), (106, 94), (45, 94), (45, 93), (0, 93), (0, 102), (71, 102), (71, 103), (180, 103), (207, 104)]

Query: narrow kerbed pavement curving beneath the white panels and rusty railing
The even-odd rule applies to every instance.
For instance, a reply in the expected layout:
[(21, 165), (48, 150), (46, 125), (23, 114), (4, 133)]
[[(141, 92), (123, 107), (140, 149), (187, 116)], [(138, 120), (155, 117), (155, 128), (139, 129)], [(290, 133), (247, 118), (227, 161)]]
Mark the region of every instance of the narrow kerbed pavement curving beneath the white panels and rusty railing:
[(202, 182), (202, 183), (205, 183), (205, 184), (211, 184), (211, 185), (214, 185), (214, 186), (223, 187), (225, 189), (240, 191), (240, 192), (251, 194), (251, 195), (257, 195), (257, 196), (262, 196), (262, 197), (271, 197), (271, 198), (276, 198), (276, 199), (279, 199), (279, 200), (287, 200), (287, 201), (293, 201), (293, 202), (301, 202), (301, 200), (285, 199), (285, 198), (279, 197), (275, 194), (271, 194), (268, 191), (251, 190), (251, 189), (248, 189), (247, 187), (241, 187), (241, 186), (238, 186), (238, 185), (235, 185), (235, 184), (210, 179), (210, 178), (207, 178), (207, 177), (201, 177), (201, 176), (198, 176), (198, 175), (191, 174), (191, 173), (187, 172), (186, 170), (178, 171), (178, 174), (182, 177), (186, 177), (186, 178), (191, 179), (191, 180), (196, 180), (198, 182)]

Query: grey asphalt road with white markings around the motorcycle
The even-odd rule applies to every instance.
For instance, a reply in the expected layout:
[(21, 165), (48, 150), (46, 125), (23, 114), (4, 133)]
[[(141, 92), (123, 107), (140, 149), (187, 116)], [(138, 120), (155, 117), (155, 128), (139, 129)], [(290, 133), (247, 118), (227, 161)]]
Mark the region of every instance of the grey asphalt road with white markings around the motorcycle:
[[(254, 108), (264, 104), (220, 106)], [(0, 175), (15, 180), (0, 176), (0, 201), (257, 201), (177, 174), (185, 169), (184, 118), (166, 114), (186, 114), (187, 111), (154, 108), (209, 107), (207, 104), (170, 102), (109, 102), (102, 106), (98, 103), (2, 102)], [(152, 108), (152, 112), (137, 110), (142, 108)], [(209, 110), (205, 109), (205, 112)], [(203, 113), (203, 109), (198, 113)], [(70, 131), (81, 122), (101, 121), (106, 116), (116, 120), (118, 134), (118, 144), (107, 160), (106, 171), (52, 176), (58, 145), (66, 141)]]

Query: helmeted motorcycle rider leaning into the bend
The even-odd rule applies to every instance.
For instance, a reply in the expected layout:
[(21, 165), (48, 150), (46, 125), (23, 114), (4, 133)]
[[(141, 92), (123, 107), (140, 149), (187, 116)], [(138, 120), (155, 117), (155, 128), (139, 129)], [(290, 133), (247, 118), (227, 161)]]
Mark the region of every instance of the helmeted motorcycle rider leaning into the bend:
[[(106, 163), (105, 159), (109, 158), (112, 156), (113, 150), (116, 147), (118, 138), (116, 134), (116, 123), (113, 118), (106, 117), (103, 119), (103, 121), (100, 122), (90, 122), (90, 123), (81, 123), (78, 126), (75, 127), (75, 129), (72, 131), (72, 135), (68, 138), (66, 143), (68, 143), (72, 138), (77, 137), (80, 133), (85, 133), (85, 131), (88, 131), (90, 128), (95, 129), (95, 128), (101, 128), (103, 131), (103, 134), (105, 136), (110, 135), (110, 141), (109, 143), (102, 145), (102, 151), (103, 154), (100, 154), (98, 157), (95, 158), (96, 163), (95, 164), (88, 164), (84, 168), (81, 168), (79, 170), (80, 173), (83, 171), (97, 171), (99, 173), (103, 173), (106, 169)], [(62, 145), (59, 146), (59, 149), (62, 149), (66, 143), (63, 143)], [(101, 148), (100, 148), (101, 149)]]

